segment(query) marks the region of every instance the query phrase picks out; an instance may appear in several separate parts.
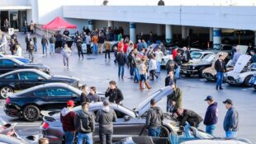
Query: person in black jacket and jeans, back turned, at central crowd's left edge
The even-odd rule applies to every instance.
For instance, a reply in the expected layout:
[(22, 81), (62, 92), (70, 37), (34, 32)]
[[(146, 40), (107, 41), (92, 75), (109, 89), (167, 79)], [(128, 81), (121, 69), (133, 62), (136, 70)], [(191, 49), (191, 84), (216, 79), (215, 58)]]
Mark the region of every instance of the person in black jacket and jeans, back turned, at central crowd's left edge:
[(120, 75), (121, 75), (121, 79), (124, 79), (126, 54), (123, 51), (118, 52), (116, 61), (118, 63), (118, 78), (120, 78)]

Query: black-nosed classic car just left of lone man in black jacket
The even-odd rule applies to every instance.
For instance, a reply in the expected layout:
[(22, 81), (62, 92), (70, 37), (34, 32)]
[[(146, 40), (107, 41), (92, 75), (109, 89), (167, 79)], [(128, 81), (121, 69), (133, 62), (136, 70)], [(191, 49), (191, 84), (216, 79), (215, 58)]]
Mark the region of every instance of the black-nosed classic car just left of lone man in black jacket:
[(211, 67), (211, 63), (214, 61), (216, 54), (207, 54), (204, 58), (197, 62), (184, 63), (181, 67), (180, 73), (189, 77), (191, 75), (198, 75), (202, 77), (202, 71), (206, 67)]

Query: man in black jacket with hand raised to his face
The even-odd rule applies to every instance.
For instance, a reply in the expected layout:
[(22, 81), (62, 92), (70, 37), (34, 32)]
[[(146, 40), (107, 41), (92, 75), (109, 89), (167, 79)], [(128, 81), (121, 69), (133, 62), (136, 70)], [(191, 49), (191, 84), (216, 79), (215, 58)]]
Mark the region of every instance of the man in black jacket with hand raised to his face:
[(117, 105), (121, 105), (122, 100), (124, 100), (124, 96), (120, 89), (116, 86), (116, 81), (110, 81), (109, 87), (105, 93), (105, 97), (108, 97), (108, 100), (111, 103), (116, 103)]

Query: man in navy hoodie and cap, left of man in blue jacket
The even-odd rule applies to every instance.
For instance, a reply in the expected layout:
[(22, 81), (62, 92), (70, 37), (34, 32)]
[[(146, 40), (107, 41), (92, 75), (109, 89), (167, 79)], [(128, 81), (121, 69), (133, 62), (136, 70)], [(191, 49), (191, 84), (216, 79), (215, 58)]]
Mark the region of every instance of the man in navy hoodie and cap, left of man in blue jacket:
[(216, 128), (216, 123), (218, 123), (218, 104), (213, 100), (211, 95), (208, 95), (205, 101), (209, 106), (206, 110), (206, 116), (203, 123), (206, 125), (206, 132), (213, 134), (213, 131)]

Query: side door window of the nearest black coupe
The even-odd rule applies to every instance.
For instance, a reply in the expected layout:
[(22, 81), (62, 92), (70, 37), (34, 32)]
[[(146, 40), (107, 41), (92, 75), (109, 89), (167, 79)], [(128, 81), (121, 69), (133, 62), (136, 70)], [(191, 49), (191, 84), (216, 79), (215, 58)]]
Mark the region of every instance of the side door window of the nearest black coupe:
[(65, 96), (65, 97), (71, 97), (71, 96), (78, 96), (75, 93), (73, 93), (73, 91), (69, 91), (67, 89), (64, 88), (51, 88), (48, 89), (48, 94), (49, 96)]

